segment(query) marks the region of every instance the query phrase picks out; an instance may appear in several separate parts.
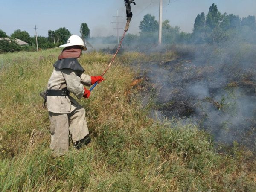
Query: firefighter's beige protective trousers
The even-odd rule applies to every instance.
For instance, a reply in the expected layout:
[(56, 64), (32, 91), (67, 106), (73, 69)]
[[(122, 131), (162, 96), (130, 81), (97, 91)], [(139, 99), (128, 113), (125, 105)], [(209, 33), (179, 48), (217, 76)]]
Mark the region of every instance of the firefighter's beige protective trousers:
[(79, 141), (89, 134), (85, 110), (81, 106), (68, 114), (49, 111), (49, 120), (51, 122), (50, 148), (57, 155), (62, 155), (68, 151), (69, 134), (73, 142)]

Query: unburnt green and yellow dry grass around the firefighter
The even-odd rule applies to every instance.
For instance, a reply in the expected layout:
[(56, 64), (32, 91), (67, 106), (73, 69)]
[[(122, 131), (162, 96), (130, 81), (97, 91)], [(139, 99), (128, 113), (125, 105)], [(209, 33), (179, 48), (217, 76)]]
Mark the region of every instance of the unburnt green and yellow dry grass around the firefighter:
[[(175, 54), (127, 53), (117, 58), (89, 99), (92, 142), (52, 157), (50, 131), (39, 96), (61, 49), (0, 55), (0, 191), (255, 191), (256, 162), (237, 145), (215, 151), (211, 137), (193, 125), (154, 122), (132, 89), (134, 61)], [(111, 55), (79, 59), (99, 75)], [(236, 143), (235, 143), (236, 144)]]

